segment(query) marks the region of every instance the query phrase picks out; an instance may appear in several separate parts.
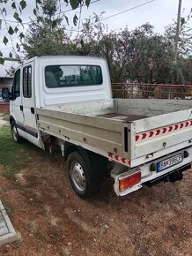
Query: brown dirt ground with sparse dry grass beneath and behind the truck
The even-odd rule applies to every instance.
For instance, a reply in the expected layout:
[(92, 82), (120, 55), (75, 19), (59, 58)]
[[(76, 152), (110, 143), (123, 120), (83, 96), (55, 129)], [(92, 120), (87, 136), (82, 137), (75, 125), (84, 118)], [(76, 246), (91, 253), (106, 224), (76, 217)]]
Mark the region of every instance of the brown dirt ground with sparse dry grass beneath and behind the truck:
[(0, 176), (1, 200), (21, 235), (0, 255), (191, 255), (191, 184), (192, 169), (181, 182), (118, 198), (105, 180), (97, 197), (81, 200), (63, 158), (37, 150), (16, 181)]

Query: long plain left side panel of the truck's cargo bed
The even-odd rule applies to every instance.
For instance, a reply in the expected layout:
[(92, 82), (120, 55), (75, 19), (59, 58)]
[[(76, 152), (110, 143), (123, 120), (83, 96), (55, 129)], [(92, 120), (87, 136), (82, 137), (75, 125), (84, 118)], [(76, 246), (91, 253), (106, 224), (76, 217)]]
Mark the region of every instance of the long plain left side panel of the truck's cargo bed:
[(101, 117), (63, 113), (50, 109), (37, 109), (38, 126), (41, 130), (54, 132), (63, 139), (75, 139), (108, 153), (124, 155), (123, 123)]

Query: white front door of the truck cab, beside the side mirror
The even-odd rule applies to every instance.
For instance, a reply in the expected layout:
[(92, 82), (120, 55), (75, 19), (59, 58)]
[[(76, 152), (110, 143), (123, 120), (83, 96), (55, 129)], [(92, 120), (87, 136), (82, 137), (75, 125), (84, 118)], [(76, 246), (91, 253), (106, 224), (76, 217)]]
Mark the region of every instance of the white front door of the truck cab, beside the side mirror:
[(18, 69), (15, 72), (15, 76), (12, 84), (11, 102), (10, 102), (10, 114), (14, 118), (16, 123), (18, 134), (26, 138), (24, 114), (23, 114), (23, 102), (22, 102), (22, 85), (21, 85), (21, 70)]

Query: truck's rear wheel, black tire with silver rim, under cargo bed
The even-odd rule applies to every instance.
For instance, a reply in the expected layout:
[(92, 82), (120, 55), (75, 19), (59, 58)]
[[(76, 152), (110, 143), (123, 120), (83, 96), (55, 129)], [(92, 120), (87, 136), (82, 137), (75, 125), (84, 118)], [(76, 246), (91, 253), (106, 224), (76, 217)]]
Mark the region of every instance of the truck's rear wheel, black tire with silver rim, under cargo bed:
[[(101, 168), (97, 166), (97, 157), (83, 157), (78, 151), (70, 153), (67, 159), (67, 172), (73, 190), (82, 199), (91, 198), (100, 188)], [(90, 164), (92, 163), (92, 164)]]

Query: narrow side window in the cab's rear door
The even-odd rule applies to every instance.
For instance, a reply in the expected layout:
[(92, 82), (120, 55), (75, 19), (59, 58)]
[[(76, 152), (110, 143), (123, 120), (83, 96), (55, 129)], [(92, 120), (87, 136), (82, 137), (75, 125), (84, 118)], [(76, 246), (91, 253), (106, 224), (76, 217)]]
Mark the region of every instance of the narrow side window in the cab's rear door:
[(25, 98), (32, 97), (32, 67), (27, 66), (23, 69), (23, 95)]

